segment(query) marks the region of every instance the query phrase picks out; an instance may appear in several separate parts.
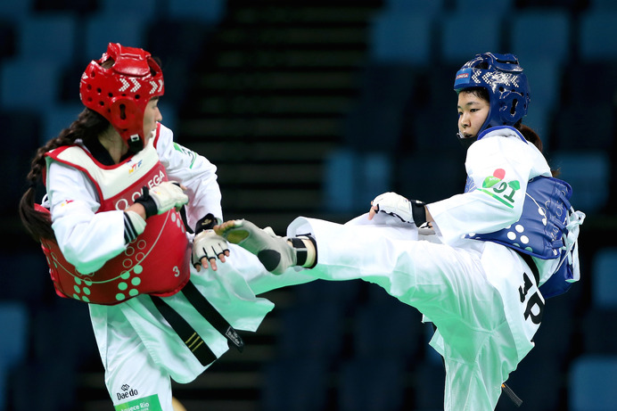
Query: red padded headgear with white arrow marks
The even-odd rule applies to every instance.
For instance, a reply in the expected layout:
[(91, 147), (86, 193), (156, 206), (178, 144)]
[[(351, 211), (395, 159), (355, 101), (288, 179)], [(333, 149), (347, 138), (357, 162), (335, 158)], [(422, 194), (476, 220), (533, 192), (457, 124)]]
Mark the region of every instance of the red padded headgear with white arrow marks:
[[(105, 68), (105, 62), (112, 64)], [(107, 53), (88, 64), (79, 86), (81, 102), (107, 119), (136, 150), (144, 147), (145, 106), (164, 91), (163, 73), (152, 55), (118, 43), (107, 45)]]

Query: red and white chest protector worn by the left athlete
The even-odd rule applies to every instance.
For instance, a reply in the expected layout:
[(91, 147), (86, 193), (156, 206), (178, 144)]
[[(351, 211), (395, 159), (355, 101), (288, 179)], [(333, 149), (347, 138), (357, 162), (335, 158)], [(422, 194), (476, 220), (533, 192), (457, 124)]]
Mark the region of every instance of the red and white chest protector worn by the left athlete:
[[(78, 146), (48, 152), (47, 161), (60, 161), (90, 178), (101, 202), (97, 212), (124, 210), (141, 195), (144, 185), (152, 187), (168, 180), (152, 140), (131, 159), (111, 167), (103, 166)], [(64, 259), (56, 242), (44, 239), (41, 246), (56, 292), (66, 298), (112, 305), (139, 294), (165, 297), (180, 291), (190, 277), (191, 255), (182, 218), (172, 209), (148, 218), (146, 223), (144, 233), (125, 251), (90, 274), (79, 273)]]

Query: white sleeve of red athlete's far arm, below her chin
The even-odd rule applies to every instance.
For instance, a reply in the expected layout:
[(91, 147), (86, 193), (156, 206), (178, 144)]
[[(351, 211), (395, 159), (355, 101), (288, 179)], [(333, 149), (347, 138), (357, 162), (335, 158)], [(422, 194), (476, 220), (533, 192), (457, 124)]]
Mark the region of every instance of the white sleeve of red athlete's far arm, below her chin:
[(173, 133), (163, 125), (160, 125), (156, 148), (169, 179), (180, 182), (187, 189), (189, 202), (186, 217), (189, 226), (194, 228), (197, 221), (208, 213), (222, 219), (216, 166), (196, 152), (174, 143)]

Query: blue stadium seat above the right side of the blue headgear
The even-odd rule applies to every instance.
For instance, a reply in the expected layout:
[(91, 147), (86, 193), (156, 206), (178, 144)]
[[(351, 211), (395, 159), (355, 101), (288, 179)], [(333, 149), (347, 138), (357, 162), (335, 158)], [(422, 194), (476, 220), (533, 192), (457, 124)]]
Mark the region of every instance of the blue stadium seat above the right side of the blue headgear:
[(566, 10), (525, 9), (514, 13), (510, 24), (510, 53), (516, 54), (523, 68), (538, 59), (564, 63), (571, 57), (572, 23)]

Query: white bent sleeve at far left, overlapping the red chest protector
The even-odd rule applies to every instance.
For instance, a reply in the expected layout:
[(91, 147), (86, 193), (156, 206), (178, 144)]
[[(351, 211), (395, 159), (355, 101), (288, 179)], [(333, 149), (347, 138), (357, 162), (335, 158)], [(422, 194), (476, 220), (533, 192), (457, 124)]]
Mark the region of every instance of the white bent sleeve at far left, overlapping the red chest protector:
[(80, 273), (95, 272), (124, 251), (123, 212), (96, 213), (95, 188), (81, 171), (53, 161), (46, 186), (56, 241)]

